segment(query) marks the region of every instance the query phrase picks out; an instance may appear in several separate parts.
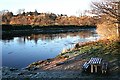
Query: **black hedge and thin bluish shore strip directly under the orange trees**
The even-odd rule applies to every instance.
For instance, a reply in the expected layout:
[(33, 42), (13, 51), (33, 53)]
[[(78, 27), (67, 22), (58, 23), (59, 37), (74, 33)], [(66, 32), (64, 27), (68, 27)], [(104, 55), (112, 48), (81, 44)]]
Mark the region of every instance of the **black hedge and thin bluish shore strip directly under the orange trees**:
[(10, 25), (3, 24), (3, 33), (19, 33), (19, 32), (33, 32), (33, 33), (60, 33), (60, 32), (74, 32), (81, 29), (96, 29), (96, 26), (92, 25)]

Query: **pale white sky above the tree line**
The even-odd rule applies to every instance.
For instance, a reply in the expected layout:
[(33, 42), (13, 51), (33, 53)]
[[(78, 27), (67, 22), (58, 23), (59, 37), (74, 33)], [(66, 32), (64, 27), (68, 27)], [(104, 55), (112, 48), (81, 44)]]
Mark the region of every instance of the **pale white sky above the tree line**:
[(0, 11), (9, 10), (14, 14), (19, 9), (25, 12), (35, 11), (55, 14), (79, 16), (84, 10), (90, 9), (90, 4), (95, 0), (1, 0)]

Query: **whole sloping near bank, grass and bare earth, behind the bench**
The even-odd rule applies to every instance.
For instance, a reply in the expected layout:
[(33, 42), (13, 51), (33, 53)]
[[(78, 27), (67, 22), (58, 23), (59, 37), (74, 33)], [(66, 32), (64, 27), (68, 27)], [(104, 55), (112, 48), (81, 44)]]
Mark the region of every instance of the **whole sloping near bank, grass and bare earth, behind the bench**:
[(38, 61), (29, 65), (29, 69), (42, 70), (80, 70), (83, 63), (91, 57), (100, 57), (109, 62), (110, 73), (119, 73), (120, 66), (120, 42), (111, 40), (99, 40), (76, 44), (75, 48), (66, 50), (54, 59)]

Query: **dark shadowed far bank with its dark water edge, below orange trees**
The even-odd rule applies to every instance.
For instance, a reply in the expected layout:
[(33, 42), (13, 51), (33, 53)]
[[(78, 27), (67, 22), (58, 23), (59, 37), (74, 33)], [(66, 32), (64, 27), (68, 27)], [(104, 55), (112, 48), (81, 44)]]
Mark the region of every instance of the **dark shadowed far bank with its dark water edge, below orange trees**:
[(2, 25), (2, 38), (13, 36), (26, 36), (31, 34), (56, 34), (67, 32), (79, 32), (81, 30), (94, 30), (96, 26), (78, 25)]

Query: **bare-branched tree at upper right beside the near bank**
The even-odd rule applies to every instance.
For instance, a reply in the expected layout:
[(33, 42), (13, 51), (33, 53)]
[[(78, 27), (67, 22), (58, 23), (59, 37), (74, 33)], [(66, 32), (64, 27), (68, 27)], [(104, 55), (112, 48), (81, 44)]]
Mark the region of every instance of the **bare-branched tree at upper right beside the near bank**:
[(106, 15), (109, 21), (117, 26), (117, 37), (120, 40), (120, 0), (102, 0), (92, 3), (93, 14), (98, 16)]

